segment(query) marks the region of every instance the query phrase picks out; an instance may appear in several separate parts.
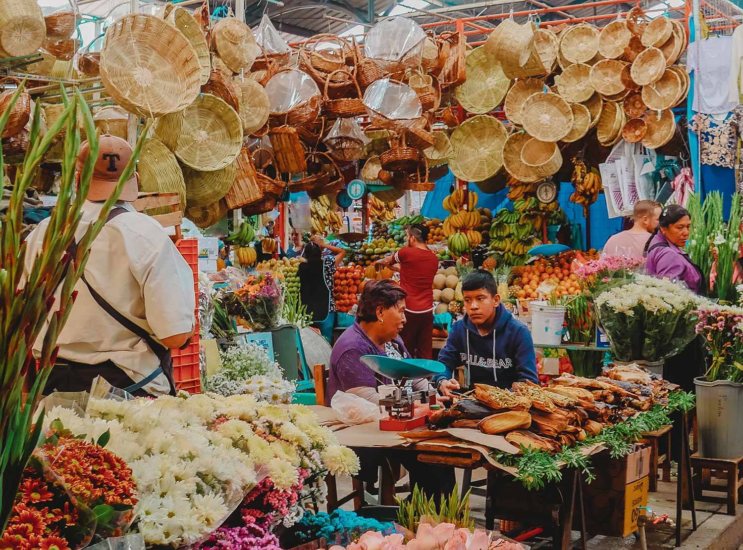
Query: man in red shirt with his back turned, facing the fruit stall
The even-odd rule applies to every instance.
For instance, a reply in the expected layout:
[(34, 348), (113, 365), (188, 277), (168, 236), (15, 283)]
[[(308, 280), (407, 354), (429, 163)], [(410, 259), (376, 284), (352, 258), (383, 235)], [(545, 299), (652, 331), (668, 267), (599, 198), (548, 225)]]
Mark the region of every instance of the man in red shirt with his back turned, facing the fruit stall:
[(400, 272), (400, 287), (407, 292), (405, 317), (400, 338), (411, 356), (432, 359), (433, 278), (438, 271), (438, 258), (426, 246), (428, 229), (416, 223), (406, 232), (408, 246), (378, 261)]

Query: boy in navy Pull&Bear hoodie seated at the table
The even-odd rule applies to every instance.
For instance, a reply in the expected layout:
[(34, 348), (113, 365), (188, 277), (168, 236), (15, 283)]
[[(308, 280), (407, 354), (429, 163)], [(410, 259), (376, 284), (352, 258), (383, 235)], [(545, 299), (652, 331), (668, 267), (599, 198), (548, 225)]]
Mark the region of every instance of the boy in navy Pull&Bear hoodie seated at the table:
[(507, 312), (489, 272), (478, 269), (462, 283), (467, 315), (452, 325), (438, 360), (447, 370), (433, 377), (445, 397), (460, 390), (453, 373), (464, 365), (465, 383), (490, 384), (510, 390), (513, 382), (539, 384), (531, 333)]

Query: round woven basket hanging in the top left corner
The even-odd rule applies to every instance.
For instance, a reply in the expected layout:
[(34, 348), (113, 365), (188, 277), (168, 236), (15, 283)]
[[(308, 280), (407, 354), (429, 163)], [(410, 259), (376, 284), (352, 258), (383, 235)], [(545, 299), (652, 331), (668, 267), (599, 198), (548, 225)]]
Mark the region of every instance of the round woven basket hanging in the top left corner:
[(38, 2), (0, 1), (0, 50), (7, 53), (3, 57), (30, 55), (39, 49), (45, 37), (46, 24)]

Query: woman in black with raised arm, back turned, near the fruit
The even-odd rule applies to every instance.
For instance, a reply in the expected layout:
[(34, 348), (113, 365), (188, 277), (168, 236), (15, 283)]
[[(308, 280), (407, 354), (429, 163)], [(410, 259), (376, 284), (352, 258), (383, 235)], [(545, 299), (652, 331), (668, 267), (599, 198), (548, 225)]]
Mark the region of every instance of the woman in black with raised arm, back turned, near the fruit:
[[(322, 256), (322, 249), (330, 254)], [(315, 236), (305, 244), (299, 265), (299, 298), (312, 315), (312, 326), (317, 328), (328, 344), (333, 336), (335, 302), (333, 300), (333, 278), (335, 270), (345, 257), (345, 250), (331, 246)]]

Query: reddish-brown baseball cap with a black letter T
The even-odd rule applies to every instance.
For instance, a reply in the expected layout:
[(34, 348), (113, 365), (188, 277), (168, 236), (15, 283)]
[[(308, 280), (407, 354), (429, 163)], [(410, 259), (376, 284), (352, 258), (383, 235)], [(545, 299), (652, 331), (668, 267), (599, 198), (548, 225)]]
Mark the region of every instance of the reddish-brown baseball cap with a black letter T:
[[(129, 142), (120, 137), (103, 134), (99, 138), (98, 159), (93, 168), (93, 179), (88, 190), (88, 200), (106, 200), (116, 189), (121, 173), (132, 158), (132, 147)], [(85, 160), (90, 154), (90, 145), (87, 141), (80, 144), (80, 154), (77, 156), (77, 171), (82, 172)], [(119, 200), (131, 203), (137, 200), (139, 191), (139, 174), (134, 172), (124, 184)]]

